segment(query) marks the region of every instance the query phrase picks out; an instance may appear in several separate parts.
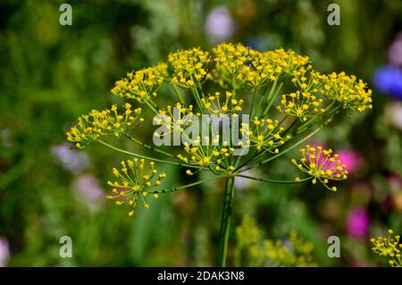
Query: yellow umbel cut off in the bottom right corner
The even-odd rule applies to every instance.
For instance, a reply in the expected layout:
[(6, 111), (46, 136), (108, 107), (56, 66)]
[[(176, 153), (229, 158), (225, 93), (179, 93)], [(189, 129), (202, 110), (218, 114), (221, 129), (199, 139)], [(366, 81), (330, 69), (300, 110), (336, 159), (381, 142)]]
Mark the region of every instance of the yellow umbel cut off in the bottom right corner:
[(402, 250), (402, 243), (399, 243), (400, 236), (393, 236), (394, 231), (388, 231), (388, 237), (377, 237), (370, 239), (373, 243), (373, 252), (379, 256), (389, 258), (389, 265), (392, 267), (402, 267), (402, 259), (400, 251)]

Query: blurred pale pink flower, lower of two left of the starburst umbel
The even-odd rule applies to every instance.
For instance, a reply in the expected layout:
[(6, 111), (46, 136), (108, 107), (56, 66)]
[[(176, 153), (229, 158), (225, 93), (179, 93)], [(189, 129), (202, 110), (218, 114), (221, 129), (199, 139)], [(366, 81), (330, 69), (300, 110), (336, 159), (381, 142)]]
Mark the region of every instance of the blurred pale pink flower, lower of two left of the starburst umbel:
[(83, 175), (74, 180), (74, 189), (84, 199), (90, 210), (96, 211), (104, 201), (105, 193), (93, 175)]

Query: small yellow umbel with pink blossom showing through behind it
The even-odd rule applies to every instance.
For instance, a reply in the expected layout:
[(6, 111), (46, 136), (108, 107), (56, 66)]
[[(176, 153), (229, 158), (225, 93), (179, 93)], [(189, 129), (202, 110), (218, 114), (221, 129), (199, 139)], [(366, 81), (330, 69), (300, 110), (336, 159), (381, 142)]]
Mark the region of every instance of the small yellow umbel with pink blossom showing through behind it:
[[(297, 166), (302, 172), (306, 172), (310, 175), (315, 184), (317, 180), (332, 191), (336, 191), (336, 187), (328, 187), (329, 180), (345, 180), (348, 178), (348, 171), (346, 165), (342, 164), (338, 159), (339, 155), (332, 154), (331, 149), (322, 149), (322, 147), (310, 147), (306, 145), (306, 148), (300, 149), (303, 155), (300, 158), (300, 163), (297, 163), (296, 159), (292, 159), (292, 163)], [(298, 178), (296, 179), (299, 180)]]

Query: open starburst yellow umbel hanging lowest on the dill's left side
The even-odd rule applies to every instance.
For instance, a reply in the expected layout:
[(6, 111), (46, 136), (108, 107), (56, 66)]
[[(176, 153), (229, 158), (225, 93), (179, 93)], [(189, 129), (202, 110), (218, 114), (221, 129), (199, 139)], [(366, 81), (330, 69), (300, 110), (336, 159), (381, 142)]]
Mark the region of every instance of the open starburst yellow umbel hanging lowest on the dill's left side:
[[(146, 197), (150, 194), (149, 190), (160, 185), (161, 180), (166, 177), (165, 173), (158, 174), (154, 162), (150, 162), (147, 167), (145, 160), (138, 160), (138, 158), (122, 161), (120, 171), (113, 168), (113, 174), (118, 181), (107, 182), (113, 187), (113, 195), (107, 198), (116, 199), (116, 205), (130, 205), (130, 216), (134, 214), (138, 199), (142, 201), (146, 209), (149, 208), (146, 202)], [(154, 198), (158, 197), (157, 194), (150, 195)]]

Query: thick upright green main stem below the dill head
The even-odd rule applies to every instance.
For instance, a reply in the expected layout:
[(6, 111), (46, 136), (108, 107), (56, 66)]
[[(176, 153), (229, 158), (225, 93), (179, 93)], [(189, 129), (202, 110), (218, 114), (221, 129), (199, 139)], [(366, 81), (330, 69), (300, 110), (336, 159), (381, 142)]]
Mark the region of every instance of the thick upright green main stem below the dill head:
[(229, 233), (231, 222), (231, 208), (234, 197), (234, 177), (226, 179), (225, 193), (222, 208), (222, 222), (220, 233), (220, 244), (218, 253), (218, 266), (226, 266), (226, 256), (228, 255)]

